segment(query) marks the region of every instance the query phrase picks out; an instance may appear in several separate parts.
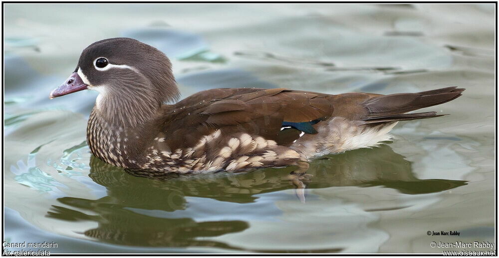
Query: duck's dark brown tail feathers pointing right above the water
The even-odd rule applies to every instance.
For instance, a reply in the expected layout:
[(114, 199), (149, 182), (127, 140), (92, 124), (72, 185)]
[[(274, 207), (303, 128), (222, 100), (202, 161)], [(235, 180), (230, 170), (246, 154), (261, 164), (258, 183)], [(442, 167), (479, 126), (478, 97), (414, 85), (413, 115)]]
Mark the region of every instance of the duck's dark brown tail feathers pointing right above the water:
[(362, 103), (367, 110), (363, 120), (366, 124), (373, 124), (441, 117), (444, 115), (437, 115), (436, 112), (404, 113), (449, 102), (461, 96), (464, 90), (457, 87), (447, 87), (418, 93), (400, 93), (371, 98)]

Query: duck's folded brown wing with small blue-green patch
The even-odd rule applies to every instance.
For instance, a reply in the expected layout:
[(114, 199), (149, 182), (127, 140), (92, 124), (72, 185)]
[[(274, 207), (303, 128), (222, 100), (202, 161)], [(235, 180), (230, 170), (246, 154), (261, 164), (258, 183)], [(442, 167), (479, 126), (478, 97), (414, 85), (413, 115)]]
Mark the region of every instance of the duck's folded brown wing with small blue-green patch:
[(290, 145), (333, 113), (331, 95), (287, 89), (213, 89), (169, 106), (164, 131), (173, 148), (196, 144), (203, 135), (247, 132)]

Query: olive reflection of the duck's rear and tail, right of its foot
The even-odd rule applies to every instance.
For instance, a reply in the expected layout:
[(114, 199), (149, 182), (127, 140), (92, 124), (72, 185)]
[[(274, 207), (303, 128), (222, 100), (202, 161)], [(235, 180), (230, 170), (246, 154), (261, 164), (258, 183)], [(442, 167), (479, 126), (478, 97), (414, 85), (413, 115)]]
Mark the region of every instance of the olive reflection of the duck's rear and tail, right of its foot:
[(311, 169), (317, 177), (313, 181), (321, 181), (311, 184), (312, 188), (383, 186), (405, 194), (426, 194), (466, 185), (461, 180), (416, 178), (411, 162), (388, 145), (329, 155), (313, 162)]

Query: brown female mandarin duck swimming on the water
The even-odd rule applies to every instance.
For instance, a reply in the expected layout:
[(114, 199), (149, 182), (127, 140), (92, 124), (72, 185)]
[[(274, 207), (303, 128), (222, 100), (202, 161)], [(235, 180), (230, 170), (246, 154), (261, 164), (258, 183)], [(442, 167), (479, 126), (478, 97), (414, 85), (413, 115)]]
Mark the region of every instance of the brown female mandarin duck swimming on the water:
[(148, 175), (243, 171), (295, 165), (376, 146), (399, 122), (435, 118), (408, 112), (446, 103), (464, 89), (381, 95), (254, 88), (211, 89), (176, 104), (179, 90), (168, 57), (131, 38), (97, 41), (50, 99), (81, 90), (99, 93), (87, 126), (91, 153)]

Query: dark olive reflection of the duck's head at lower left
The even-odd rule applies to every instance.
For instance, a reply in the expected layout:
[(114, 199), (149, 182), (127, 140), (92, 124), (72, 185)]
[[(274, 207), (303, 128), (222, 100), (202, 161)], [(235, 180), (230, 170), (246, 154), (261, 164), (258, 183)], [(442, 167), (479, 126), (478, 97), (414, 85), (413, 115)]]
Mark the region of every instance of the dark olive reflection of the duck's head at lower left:
[(48, 217), (81, 221), (91, 220), (99, 227), (84, 232), (87, 237), (103, 242), (144, 247), (219, 247), (235, 249), (224, 243), (196, 240), (198, 237), (215, 237), (240, 232), (248, 228), (243, 221), (196, 222), (191, 218), (154, 218), (125, 209), (127, 202), (114, 203), (112, 198), (87, 200), (64, 197), (63, 204), (97, 212), (91, 216), (82, 212), (53, 206)]

